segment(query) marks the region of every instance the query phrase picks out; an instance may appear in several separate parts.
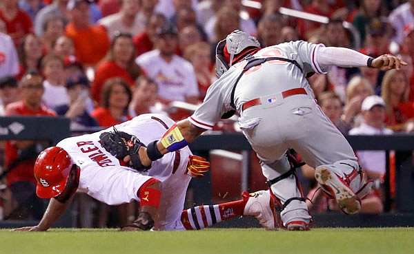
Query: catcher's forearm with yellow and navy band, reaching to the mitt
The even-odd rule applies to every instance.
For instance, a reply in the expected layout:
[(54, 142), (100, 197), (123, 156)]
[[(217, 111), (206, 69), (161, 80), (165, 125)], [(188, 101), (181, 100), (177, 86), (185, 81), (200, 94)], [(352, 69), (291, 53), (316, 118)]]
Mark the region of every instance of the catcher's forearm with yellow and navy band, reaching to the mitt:
[[(152, 160), (157, 160), (170, 151), (185, 147), (206, 130), (193, 125), (188, 119), (180, 120), (166, 131), (161, 140), (148, 144), (148, 147), (139, 147), (138, 154), (142, 165), (149, 166)], [(175, 141), (170, 142), (171, 140)]]

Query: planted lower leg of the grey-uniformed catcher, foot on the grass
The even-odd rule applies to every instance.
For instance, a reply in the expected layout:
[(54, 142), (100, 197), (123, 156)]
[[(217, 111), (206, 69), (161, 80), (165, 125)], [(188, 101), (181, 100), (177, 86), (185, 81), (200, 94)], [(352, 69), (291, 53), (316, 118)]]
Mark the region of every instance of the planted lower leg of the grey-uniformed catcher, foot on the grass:
[(277, 203), (282, 207), (280, 212), (282, 225), (288, 230), (308, 230), (311, 215), (295, 168), (290, 167), (286, 155), (272, 164), (262, 162), (262, 171), (268, 179), (266, 183), (275, 195)]

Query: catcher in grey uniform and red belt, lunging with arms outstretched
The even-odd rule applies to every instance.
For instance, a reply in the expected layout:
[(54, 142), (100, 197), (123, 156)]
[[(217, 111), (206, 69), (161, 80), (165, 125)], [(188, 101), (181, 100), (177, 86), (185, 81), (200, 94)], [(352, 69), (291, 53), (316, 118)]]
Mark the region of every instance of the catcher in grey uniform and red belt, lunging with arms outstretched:
[(222, 117), (237, 111), (239, 127), (250, 142), (275, 199), (282, 225), (307, 230), (311, 222), (302, 188), (286, 156), (295, 149), (315, 168), (315, 178), (339, 209), (355, 214), (371, 189), (353, 149), (322, 113), (306, 76), (326, 74), (332, 65), (391, 70), (407, 65), (384, 54), (376, 59), (344, 47), (291, 41), (261, 48), (257, 39), (235, 30), (216, 47), (219, 79), (193, 116), (172, 125), (160, 140), (139, 149), (142, 165), (156, 163), (169, 152), (193, 142)]

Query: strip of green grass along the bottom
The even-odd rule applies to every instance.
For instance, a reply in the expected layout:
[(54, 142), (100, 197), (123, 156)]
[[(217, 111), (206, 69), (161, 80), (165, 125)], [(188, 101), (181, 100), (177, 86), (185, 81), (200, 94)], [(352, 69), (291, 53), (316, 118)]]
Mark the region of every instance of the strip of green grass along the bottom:
[(414, 228), (208, 229), (179, 232), (118, 232), (115, 229), (0, 230), (1, 254), (128, 253), (414, 253)]

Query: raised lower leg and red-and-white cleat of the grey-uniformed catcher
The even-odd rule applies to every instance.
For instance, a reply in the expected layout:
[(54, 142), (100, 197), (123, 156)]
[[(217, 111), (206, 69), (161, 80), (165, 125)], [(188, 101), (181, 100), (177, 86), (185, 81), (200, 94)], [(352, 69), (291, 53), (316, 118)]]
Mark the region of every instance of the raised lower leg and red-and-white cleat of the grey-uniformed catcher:
[(339, 209), (346, 214), (359, 212), (360, 198), (370, 191), (373, 184), (372, 180), (365, 181), (364, 171), (353, 160), (319, 166), (315, 169), (315, 178), (328, 197), (335, 198)]

